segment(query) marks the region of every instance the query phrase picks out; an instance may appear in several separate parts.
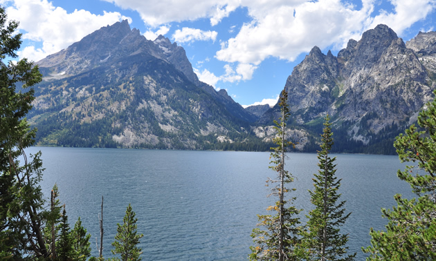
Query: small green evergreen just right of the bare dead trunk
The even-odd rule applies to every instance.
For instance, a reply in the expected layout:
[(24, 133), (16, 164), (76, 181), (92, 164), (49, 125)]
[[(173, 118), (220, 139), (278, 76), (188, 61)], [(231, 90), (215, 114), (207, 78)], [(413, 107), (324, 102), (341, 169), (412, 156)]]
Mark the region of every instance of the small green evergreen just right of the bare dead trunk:
[(117, 224), (116, 231), (118, 232), (115, 236), (115, 242), (112, 246), (115, 250), (112, 250), (113, 254), (121, 254), (122, 260), (141, 260), (140, 254), (143, 253), (142, 249), (136, 247), (139, 244), (139, 239), (142, 238), (143, 234), (138, 234), (136, 229), (136, 221), (134, 211), (131, 211), (131, 206), (127, 206), (126, 215), (123, 218), (124, 224)]

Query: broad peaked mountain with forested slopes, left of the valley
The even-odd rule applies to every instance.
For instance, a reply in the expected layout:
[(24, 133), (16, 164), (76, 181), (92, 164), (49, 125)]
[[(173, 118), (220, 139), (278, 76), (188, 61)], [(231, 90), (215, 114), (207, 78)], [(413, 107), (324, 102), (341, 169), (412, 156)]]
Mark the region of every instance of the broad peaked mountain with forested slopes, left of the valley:
[[(185, 50), (145, 39), (127, 21), (100, 28), (38, 61), (28, 115), (38, 144), (127, 148), (265, 146), (255, 117), (194, 74)], [(257, 147), (256, 147), (257, 146)]]

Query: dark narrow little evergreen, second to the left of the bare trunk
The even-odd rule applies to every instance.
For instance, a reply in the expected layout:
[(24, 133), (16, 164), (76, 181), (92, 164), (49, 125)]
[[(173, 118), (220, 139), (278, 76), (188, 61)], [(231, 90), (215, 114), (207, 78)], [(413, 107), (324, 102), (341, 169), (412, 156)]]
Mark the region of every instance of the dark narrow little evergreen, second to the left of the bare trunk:
[(71, 238), (70, 225), (68, 223), (68, 216), (66, 215), (65, 205), (62, 211), (62, 218), (59, 224), (59, 240), (57, 241), (57, 260), (72, 260), (74, 256), (73, 251), (73, 238)]

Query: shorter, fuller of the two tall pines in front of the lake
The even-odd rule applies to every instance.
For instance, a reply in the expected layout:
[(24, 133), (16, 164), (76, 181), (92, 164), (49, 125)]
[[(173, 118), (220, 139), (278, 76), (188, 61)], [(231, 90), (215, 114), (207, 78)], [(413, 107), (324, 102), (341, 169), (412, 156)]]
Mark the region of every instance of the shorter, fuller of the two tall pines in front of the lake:
[(331, 158), (329, 151), (333, 146), (330, 117), (325, 117), (321, 135), (321, 151), (318, 151), (318, 174), (314, 174), (314, 191), (309, 191), (311, 203), (315, 208), (307, 215), (307, 226), (302, 231), (300, 258), (304, 260), (354, 260), (356, 253), (346, 255), (347, 235), (341, 235), (339, 227), (351, 213), (344, 214), (345, 201), (338, 202), (340, 181), (335, 176), (336, 157)]

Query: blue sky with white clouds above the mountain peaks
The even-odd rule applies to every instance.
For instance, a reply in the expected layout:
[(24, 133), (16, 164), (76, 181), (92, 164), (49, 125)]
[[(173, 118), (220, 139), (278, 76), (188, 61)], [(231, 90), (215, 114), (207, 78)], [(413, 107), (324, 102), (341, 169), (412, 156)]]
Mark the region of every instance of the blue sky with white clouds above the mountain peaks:
[(408, 41), (436, 30), (436, 0), (0, 0), (19, 21), (18, 52), (39, 61), (127, 19), (182, 46), (201, 81), (242, 106), (276, 103), (311, 48), (336, 55), (383, 23)]

